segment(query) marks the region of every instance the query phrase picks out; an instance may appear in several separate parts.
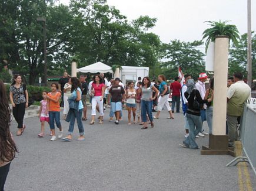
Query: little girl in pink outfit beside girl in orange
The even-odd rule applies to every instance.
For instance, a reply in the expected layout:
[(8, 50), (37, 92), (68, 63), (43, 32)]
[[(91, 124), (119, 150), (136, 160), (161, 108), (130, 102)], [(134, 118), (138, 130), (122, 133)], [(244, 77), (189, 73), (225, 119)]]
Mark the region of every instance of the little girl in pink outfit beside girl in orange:
[(44, 100), (40, 101), (41, 103), (41, 107), (40, 107), (40, 110), (39, 110), (39, 114), (38, 114), (38, 117), (40, 119), (40, 122), (41, 122), (41, 132), (38, 134), (38, 137), (45, 137), (45, 134), (44, 134), (44, 129), (45, 129), (45, 121), (46, 122), (49, 122), (49, 111), (48, 111), (48, 108), (47, 108), (47, 96), (48, 92), (46, 91), (43, 91), (42, 92), (42, 97), (44, 98)]

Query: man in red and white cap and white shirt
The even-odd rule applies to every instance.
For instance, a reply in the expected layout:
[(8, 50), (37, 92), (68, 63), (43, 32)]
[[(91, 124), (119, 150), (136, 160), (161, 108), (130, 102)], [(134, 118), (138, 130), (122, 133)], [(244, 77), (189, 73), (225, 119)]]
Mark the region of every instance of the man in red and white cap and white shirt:
[[(207, 74), (206, 73), (200, 73), (198, 77), (198, 82), (195, 84), (195, 88), (200, 92), (200, 95), (202, 98), (205, 96), (205, 81), (207, 80)], [(206, 105), (204, 104), (204, 108), (201, 109), (201, 119), (202, 123), (206, 121)], [(202, 132), (200, 132), (196, 137), (205, 137), (204, 135), (208, 135), (207, 132), (202, 129)]]

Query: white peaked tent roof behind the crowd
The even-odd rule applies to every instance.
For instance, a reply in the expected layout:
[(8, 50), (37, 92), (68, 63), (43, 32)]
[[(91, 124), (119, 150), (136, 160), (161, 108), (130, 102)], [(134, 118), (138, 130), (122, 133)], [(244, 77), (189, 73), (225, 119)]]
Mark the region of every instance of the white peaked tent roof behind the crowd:
[(81, 67), (80, 69), (77, 69), (77, 72), (79, 71), (82, 73), (113, 73), (111, 67), (102, 62), (97, 62), (89, 66)]

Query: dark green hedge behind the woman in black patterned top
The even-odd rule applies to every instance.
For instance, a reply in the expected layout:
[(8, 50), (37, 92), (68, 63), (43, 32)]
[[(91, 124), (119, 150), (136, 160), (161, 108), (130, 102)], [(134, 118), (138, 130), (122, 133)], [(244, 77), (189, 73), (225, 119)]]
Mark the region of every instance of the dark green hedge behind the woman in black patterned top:
[[(9, 85), (5, 85), (6, 87), (6, 93), (9, 97)], [(26, 89), (28, 90), (28, 96), (32, 97), (34, 101), (41, 101), (42, 100), (42, 92), (43, 91), (50, 91), (49, 87), (39, 87), (39, 86), (26, 86)]]

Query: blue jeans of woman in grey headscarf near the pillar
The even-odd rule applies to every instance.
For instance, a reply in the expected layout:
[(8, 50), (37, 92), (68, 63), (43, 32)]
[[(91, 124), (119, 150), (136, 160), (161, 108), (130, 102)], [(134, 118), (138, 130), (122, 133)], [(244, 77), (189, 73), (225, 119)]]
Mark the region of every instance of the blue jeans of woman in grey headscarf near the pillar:
[(198, 145), (195, 142), (195, 135), (202, 131), (202, 120), (198, 115), (187, 114), (187, 121), (189, 125), (189, 136), (185, 138), (183, 143), (191, 149), (198, 149)]

